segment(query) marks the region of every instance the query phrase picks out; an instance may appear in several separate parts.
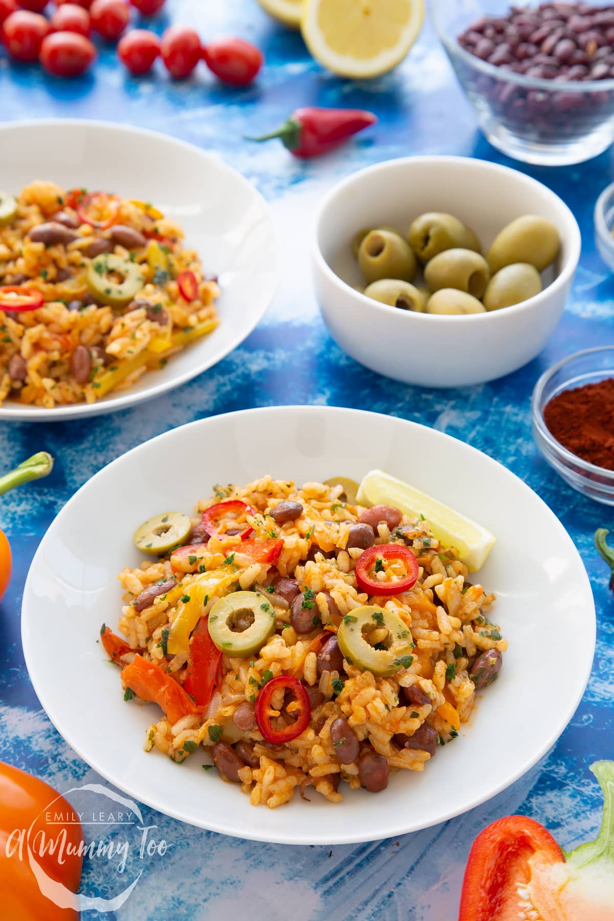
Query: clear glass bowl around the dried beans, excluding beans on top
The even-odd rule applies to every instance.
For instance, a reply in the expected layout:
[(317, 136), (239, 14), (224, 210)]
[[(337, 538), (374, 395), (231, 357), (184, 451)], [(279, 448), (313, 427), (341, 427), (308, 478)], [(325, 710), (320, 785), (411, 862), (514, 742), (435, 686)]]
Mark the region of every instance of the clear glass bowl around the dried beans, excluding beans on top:
[[(435, 29), (481, 130), (498, 150), (526, 163), (563, 166), (597, 157), (614, 142), (614, 79), (525, 76), (482, 61), (458, 42), (476, 20), (503, 17), (511, 5), (511, 0), (431, 0)], [(593, 6), (611, 4), (602, 0)]]

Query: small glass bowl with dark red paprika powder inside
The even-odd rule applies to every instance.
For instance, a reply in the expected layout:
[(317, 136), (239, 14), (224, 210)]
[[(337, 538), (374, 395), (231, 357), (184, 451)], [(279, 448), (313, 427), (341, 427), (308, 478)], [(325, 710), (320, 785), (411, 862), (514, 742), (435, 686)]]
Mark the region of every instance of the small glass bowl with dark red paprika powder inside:
[(563, 358), (539, 378), (533, 436), (562, 479), (614, 506), (614, 345)]

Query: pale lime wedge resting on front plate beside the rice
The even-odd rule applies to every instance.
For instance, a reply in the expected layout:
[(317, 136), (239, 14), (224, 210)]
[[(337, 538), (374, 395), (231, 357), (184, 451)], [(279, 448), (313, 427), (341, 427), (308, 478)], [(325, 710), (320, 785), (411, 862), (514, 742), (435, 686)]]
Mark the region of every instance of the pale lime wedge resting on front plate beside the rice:
[(469, 566), (469, 572), (480, 569), (496, 541), (490, 530), (382, 470), (365, 475), (358, 488), (357, 502), (394, 506), (405, 515), (423, 515), (437, 540), (458, 550), (459, 559)]

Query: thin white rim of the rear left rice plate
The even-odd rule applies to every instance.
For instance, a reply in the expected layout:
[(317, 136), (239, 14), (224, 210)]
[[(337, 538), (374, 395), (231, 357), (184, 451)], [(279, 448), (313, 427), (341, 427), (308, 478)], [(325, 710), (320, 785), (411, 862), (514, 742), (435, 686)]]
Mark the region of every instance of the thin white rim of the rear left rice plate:
[(68, 127), (79, 127), (81, 125), (91, 125), (95, 128), (103, 128), (105, 130), (113, 131), (118, 134), (128, 133), (128, 134), (140, 134), (144, 137), (150, 137), (154, 140), (164, 139), (166, 142), (184, 147), (187, 150), (190, 150), (192, 153), (198, 154), (203, 158), (205, 162), (213, 162), (215, 169), (220, 169), (222, 172), (226, 172), (228, 176), (232, 177), (234, 181), (249, 188), (249, 191), (252, 192), (257, 199), (261, 200), (264, 211), (267, 216), (269, 216), (272, 227), (272, 234), (275, 240), (275, 250), (276, 250), (276, 263), (273, 266), (273, 275), (275, 277), (274, 284), (272, 285), (271, 291), (267, 292), (266, 297), (262, 299), (262, 308), (258, 316), (256, 316), (248, 325), (241, 327), (236, 335), (232, 337), (230, 343), (223, 348), (217, 356), (214, 356), (210, 360), (204, 362), (198, 367), (193, 367), (189, 371), (184, 371), (183, 374), (180, 374), (177, 378), (168, 380), (166, 383), (152, 383), (150, 387), (147, 387), (143, 391), (122, 391), (120, 395), (115, 397), (110, 397), (100, 402), (95, 403), (75, 403), (73, 406), (57, 406), (54, 409), (44, 409), (43, 407), (35, 407), (24, 411), (24, 408), (17, 405), (10, 406), (0, 406), (0, 422), (10, 422), (10, 421), (19, 421), (19, 422), (64, 422), (67, 419), (72, 418), (84, 418), (85, 416), (94, 416), (94, 415), (103, 415), (107, 413), (115, 413), (122, 409), (128, 409), (130, 406), (135, 405), (139, 402), (145, 402), (146, 400), (151, 400), (156, 396), (160, 396), (162, 393), (168, 393), (168, 391), (174, 391), (178, 387), (181, 387), (182, 384), (187, 383), (189, 380), (198, 377), (199, 374), (203, 374), (204, 371), (209, 370), (210, 367), (218, 364), (226, 356), (230, 355), (233, 352), (237, 345), (240, 345), (242, 342), (247, 339), (250, 332), (253, 332), (255, 328), (260, 323), (262, 317), (269, 309), (272, 299), (275, 296), (277, 287), (279, 285), (279, 266), (280, 266), (280, 249), (279, 249), (279, 234), (277, 227), (272, 219), (271, 210), (269, 204), (267, 203), (264, 196), (261, 192), (258, 191), (255, 185), (253, 185), (249, 180), (247, 180), (237, 169), (229, 167), (221, 157), (215, 157), (214, 154), (209, 151), (202, 150), (200, 147), (197, 147), (193, 144), (189, 144), (187, 141), (182, 141), (176, 137), (172, 137), (170, 134), (162, 134), (158, 131), (151, 131), (149, 128), (136, 128), (133, 125), (122, 124), (121, 122), (105, 122), (99, 121), (96, 119), (77, 119), (77, 118), (65, 118), (65, 119), (54, 119), (54, 118), (45, 118), (45, 119), (24, 119), (19, 122), (0, 122), (0, 143), (2, 141), (2, 135), (6, 131), (15, 131), (21, 127), (35, 128), (37, 125), (48, 125), (52, 124), (57, 128), (61, 128), (63, 125)]

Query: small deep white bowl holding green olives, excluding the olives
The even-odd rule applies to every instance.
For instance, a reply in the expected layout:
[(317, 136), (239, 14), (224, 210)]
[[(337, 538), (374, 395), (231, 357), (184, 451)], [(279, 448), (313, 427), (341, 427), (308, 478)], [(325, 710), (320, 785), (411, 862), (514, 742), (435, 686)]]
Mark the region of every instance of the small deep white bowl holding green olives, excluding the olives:
[[(544, 290), (514, 307), (462, 317), (388, 307), (354, 290), (365, 284), (354, 235), (386, 224), (406, 232), (427, 211), (457, 216), (484, 251), (516, 217), (547, 217), (559, 228), (562, 251), (543, 275)], [(389, 160), (354, 173), (320, 206), (312, 244), (316, 297), (331, 336), (356, 361), (407, 384), (463, 387), (501, 378), (539, 355), (561, 319), (580, 247), (567, 205), (515, 169), (467, 157)]]

